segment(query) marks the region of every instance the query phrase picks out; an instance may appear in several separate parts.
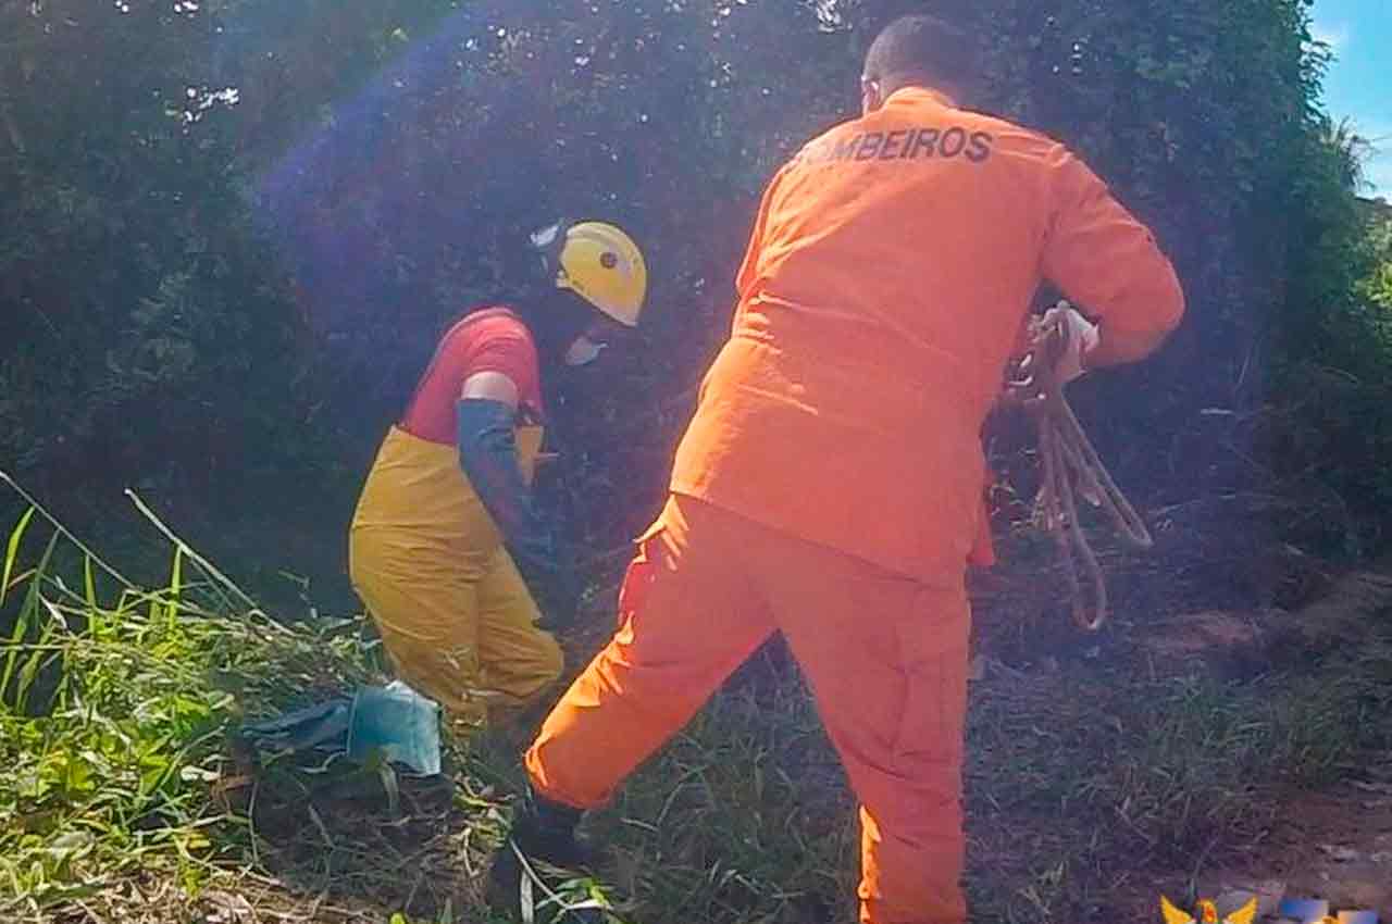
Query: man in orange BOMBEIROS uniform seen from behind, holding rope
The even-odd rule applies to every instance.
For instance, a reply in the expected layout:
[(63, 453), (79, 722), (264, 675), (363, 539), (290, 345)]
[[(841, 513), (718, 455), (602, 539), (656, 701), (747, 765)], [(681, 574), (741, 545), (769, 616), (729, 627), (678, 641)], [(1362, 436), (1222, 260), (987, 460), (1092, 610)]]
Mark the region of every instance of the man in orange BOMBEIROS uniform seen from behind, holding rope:
[[(1044, 280), (1065, 377), (1183, 314), (1169, 260), (1063, 145), (962, 107), (967, 36), (871, 45), (863, 114), (768, 184), (729, 341), (640, 537), (619, 628), (526, 753), (494, 864), (583, 859), (575, 825), (782, 632), (860, 802), (860, 920), (960, 924), (960, 767), (981, 423)], [(574, 917), (574, 913), (572, 913)]]

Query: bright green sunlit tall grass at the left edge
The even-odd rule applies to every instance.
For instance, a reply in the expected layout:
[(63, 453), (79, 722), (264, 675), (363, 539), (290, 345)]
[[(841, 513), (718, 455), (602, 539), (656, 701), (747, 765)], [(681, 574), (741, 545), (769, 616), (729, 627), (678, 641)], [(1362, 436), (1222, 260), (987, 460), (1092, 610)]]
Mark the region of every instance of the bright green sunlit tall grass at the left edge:
[(0, 569), (0, 917), (40, 918), (135, 870), (196, 893), (252, 852), (220, 799), (242, 782), (228, 729), (367, 660), (341, 626), (237, 605), (173, 533), (167, 583), (136, 587), (25, 497)]

